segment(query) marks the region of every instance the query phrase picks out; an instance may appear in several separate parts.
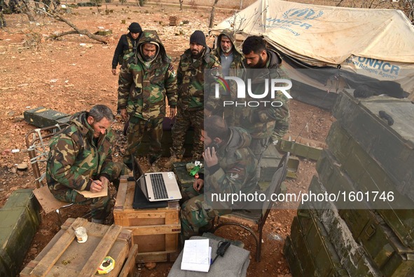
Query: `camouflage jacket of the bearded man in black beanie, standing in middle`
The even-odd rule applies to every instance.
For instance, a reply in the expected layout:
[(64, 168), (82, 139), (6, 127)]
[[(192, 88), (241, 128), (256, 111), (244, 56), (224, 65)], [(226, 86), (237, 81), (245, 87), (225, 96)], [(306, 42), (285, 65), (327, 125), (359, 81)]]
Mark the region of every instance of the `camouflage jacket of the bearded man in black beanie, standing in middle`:
[[(200, 110), (204, 108), (205, 93), (212, 96), (214, 88), (205, 91), (205, 69), (221, 69), (219, 60), (212, 55), (207, 46), (204, 55), (193, 62), (191, 50), (187, 49), (181, 55), (177, 71), (178, 104), (185, 110)], [(212, 81), (209, 83), (212, 84)]]

